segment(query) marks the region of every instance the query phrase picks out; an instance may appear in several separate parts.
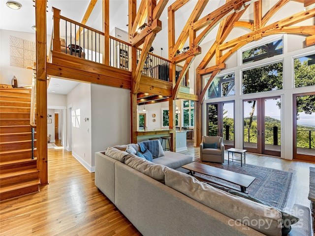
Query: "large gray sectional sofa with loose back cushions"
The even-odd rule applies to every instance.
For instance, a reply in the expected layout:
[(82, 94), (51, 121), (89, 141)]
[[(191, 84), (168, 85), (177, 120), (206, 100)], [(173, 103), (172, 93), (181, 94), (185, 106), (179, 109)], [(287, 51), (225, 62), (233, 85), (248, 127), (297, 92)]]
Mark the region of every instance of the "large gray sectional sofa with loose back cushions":
[[(282, 235), (279, 210), (183, 173), (181, 166), (192, 157), (165, 151), (150, 162), (124, 149), (126, 146), (117, 146), (95, 153), (95, 185), (142, 235)], [(294, 207), (310, 214), (308, 207)], [(303, 227), (292, 225), (296, 227), (289, 235), (311, 235), (311, 226), (306, 223)]]

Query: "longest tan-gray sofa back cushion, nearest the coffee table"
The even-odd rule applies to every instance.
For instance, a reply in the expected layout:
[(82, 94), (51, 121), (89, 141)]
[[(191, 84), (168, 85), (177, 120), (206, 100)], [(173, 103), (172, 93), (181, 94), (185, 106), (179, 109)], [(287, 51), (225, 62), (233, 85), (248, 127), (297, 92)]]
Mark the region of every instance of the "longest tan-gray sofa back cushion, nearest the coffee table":
[[(234, 196), (187, 174), (165, 169), (165, 184), (195, 201), (267, 236), (281, 236), (281, 213), (273, 208)], [(234, 224), (232, 221), (228, 222)], [(231, 225), (232, 226), (232, 225)]]

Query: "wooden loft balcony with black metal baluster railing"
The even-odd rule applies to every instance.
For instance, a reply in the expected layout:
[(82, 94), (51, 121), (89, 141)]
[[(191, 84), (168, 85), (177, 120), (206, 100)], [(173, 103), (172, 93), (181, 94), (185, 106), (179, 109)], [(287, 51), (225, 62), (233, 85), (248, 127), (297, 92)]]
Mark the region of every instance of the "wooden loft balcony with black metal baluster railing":
[[(79, 81), (131, 89), (131, 44), (92, 29), (60, 15), (53, 8), (54, 29), (48, 55), (47, 74)], [(141, 49), (136, 49), (138, 63)], [(159, 95), (166, 101), (172, 95), (173, 82), (169, 77), (168, 59), (148, 53), (141, 70), (138, 93)], [(175, 65), (175, 83), (182, 71)], [(182, 80), (180, 91), (189, 93), (188, 73)], [(148, 99), (150, 101), (150, 99)], [(156, 101), (156, 100), (155, 100)]]

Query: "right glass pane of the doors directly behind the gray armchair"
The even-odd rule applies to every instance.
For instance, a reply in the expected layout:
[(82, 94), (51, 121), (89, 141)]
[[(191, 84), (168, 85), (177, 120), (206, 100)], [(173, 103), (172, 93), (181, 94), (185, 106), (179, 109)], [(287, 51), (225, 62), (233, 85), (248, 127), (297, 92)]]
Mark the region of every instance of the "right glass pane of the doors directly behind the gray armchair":
[(234, 102), (223, 103), (223, 143), (234, 146)]

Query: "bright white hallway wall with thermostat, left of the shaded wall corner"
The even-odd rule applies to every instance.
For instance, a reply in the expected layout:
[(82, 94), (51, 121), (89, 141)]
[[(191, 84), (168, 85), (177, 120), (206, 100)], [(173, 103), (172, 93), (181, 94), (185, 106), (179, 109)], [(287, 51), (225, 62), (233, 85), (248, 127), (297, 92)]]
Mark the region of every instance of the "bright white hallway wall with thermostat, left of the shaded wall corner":
[[(67, 95), (67, 106), (72, 104), (72, 111), (80, 109), (80, 127), (69, 127), (72, 133), (72, 155), (90, 172), (92, 172), (91, 152), (91, 85), (80, 83)], [(67, 118), (71, 118), (68, 114)]]

